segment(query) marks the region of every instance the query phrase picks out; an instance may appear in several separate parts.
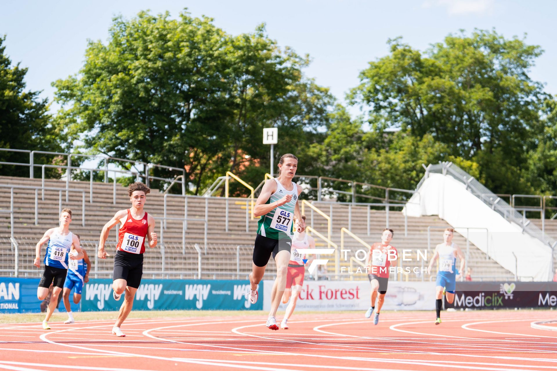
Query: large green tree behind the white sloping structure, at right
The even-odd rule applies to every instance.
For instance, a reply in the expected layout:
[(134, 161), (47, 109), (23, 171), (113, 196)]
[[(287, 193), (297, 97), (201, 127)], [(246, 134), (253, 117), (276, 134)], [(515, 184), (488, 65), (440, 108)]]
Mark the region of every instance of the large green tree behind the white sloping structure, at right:
[(449, 34), (425, 53), (399, 38), (389, 43), (390, 55), (360, 73), (351, 103), (368, 107), (382, 129), (429, 134), (447, 156), (476, 162), (496, 192), (529, 190), (522, 168), (538, 145), (548, 99), (528, 75), (541, 48), (481, 30)]

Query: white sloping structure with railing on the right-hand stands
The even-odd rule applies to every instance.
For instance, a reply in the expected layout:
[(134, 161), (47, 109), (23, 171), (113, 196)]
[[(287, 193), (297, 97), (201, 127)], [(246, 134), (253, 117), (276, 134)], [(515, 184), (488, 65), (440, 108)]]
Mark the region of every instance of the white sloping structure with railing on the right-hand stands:
[(439, 215), (519, 280), (553, 279), (557, 242), (451, 162), (426, 168), (405, 212)]

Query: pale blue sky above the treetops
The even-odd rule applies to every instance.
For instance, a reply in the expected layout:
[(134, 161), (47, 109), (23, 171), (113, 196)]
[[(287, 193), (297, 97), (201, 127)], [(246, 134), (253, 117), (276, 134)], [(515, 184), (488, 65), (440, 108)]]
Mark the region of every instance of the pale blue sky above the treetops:
[(297, 0), (297, 1), (54, 1), (4, 2), (0, 34), (13, 62), (28, 67), (27, 87), (52, 100), (52, 81), (73, 75), (82, 66), (87, 39), (106, 41), (111, 18), (133, 17), (140, 10), (170, 11), (187, 7), (193, 16), (213, 17), (231, 34), (252, 31), (265, 22), (269, 36), (313, 62), (306, 75), (344, 101), (358, 84), (367, 62), (388, 53), (388, 38), (402, 36), (419, 50), (463, 28), (496, 29), (510, 38), (527, 33), (527, 42), (545, 53), (531, 71), (557, 94), (555, 1), (518, 0)]

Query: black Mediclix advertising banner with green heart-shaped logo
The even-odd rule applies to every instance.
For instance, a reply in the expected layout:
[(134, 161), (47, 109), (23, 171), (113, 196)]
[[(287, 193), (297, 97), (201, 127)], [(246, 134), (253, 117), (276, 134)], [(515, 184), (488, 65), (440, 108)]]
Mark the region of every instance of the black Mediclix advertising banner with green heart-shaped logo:
[(457, 282), (455, 302), (445, 308), (550, 308), (557, 305), (557, 282)]

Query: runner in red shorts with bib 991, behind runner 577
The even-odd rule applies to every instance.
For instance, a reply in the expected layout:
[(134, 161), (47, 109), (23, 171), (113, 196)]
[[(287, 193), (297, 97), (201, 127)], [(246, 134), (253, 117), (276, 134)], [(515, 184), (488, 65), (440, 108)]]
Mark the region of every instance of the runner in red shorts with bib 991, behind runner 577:
[[(306, 216), (302, 215), (301, 217), (305, 225)], [(280, 328), (283, 330), (288, 329), (288, 319), (292, 313), (294, 313), (298, 294), (302, 289), (302, 285), (304, 285), (305, 255), (300, 254), (297, 249), (315, 249), (315, 240), (302, 230), (301, 223), (299, 223), (299, 220), (296, 218), (294, 219), (294, 230), (295, 232), (292, 236), (292, 252), (290, 254), (290, 261), (288, 262), (288, 271), (286, 274), (286, 291), (282, 294), (282, 303), (287, 303), (290, 299), (290, 304), (286, 307), (286, 313), (280, 324)]]

